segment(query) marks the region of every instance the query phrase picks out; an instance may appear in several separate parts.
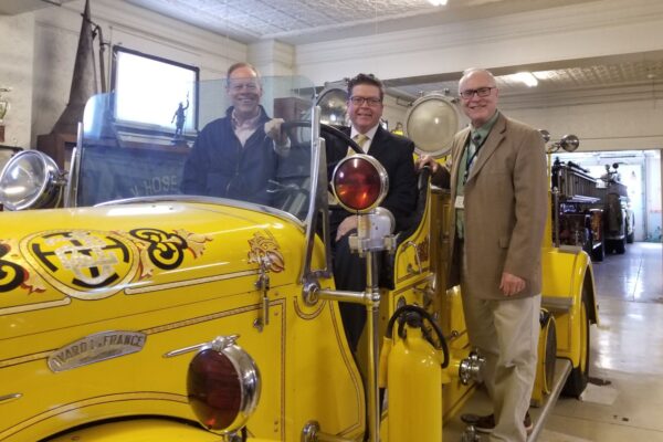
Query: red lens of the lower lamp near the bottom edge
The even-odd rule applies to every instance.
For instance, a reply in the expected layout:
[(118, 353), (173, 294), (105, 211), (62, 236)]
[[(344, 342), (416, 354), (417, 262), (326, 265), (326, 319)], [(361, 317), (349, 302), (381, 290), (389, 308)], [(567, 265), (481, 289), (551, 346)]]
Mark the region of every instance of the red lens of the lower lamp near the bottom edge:
[(223, 431), (238, 418), (242, 407), (242, 383), (231, 360), (213, 349), (191, 360), (187, 378), (189, 403), (209, 430)]

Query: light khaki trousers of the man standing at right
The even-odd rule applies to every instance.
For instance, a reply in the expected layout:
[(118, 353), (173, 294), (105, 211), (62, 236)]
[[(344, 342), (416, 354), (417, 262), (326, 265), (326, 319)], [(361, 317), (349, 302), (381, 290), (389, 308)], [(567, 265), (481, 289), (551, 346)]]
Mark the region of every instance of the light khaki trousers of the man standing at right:
[(490, 440), (525, 442), (523, 420), (536, 376), (541, 295), (480, 299), (463, 291), (463, 285), (470, 343), (486, 358), (482, 373), (495, 414), (495, 430)]

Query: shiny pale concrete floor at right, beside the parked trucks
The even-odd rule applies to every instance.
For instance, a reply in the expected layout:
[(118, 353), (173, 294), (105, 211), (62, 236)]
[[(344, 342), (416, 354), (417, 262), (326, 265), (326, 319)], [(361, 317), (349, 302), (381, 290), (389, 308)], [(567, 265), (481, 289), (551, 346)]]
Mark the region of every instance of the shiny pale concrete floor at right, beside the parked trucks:
[(628, 244), (593, 269), (592, 381), (581, 400), (559, 399), (538, 441), (663, 442), (662, 244)]

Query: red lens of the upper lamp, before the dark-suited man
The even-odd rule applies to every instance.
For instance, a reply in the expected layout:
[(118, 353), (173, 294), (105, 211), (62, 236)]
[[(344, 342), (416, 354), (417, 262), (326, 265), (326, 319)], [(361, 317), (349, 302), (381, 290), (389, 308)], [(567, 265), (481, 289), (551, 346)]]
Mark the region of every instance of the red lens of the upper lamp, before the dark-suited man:
[(338, 165), (334, 173), (334, 191), (346, 208), (367, 210), (380, 197), (380, 173), (366, 158), (351, 157)]

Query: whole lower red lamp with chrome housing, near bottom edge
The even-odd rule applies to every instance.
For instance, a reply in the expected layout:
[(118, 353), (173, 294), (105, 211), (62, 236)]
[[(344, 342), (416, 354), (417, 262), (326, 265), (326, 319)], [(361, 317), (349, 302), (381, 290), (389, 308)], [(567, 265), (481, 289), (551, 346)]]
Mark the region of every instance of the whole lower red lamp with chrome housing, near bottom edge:
[(234, 344), (236, 336), (217, 338), (191, 360), (187, 377), (189, 404), (208, 430), (241, 429), (260, 398), (255, 362)]

